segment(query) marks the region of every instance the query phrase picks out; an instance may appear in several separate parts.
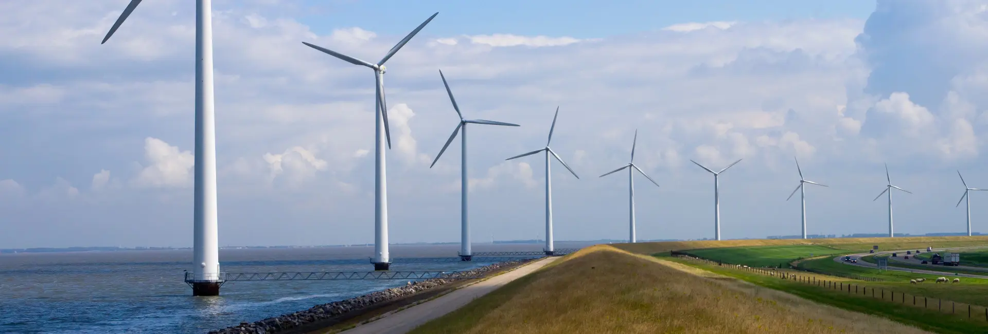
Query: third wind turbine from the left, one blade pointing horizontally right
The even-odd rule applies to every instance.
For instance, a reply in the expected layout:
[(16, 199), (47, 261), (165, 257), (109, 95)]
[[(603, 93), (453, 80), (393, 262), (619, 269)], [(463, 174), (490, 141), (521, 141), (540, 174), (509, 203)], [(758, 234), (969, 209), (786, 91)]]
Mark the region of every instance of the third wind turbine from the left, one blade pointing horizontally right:
[[(429, 166), (432, 168), (436, 166), (436, 162), (439, 162), (439, 157), (443, 157), (443, 152), (446, 152), (446, 148), (450, 147), (450, 143), (453, 143), (453, 139), (456, 138), (456, 134), (462, 131), (462, 135), (459, 136), (460, 139), (460, 241), (459, 241), (459, 258), (463, 261), (469, 261), (473, 257), (470, 252), (470, 225), (469, 218), (466, 215), (466, 194), (468, 193), (467, 185), (469, 185), (469, 180), (466, 177), (466, 124), (489, 124), (489, 125), (505, 125), (505, 126), (519, 126), (518, 124), (496, 122), (493, 120), (484, 119), (463, 119), (463, 114), (459, 112), (459, 105), (456, 105), (456, 99), (453, 99), (453, 91), (450, 90), (450, 84), (446, 82), (446, 76), (443, 75), (443, 70), (439, 71), (440, 78), (443, 78), (443, 85), (446, 86), (446, 93), (450, 95), (450, 101), (453, 102), (453, 110), (456, 110), (456, 115), (459, 116), (459, 124), (456, 124), (456, 128), (453, 129), (453, 135), (450, 136), (450, 140), (446, 141), (446, 145), (443, 145), (443, 149), (439, 151), (439, 155), (436, 155), (436, 160), (433, 161), (433, 165)], [(493, 242), (493, 241), (492, 241)]]

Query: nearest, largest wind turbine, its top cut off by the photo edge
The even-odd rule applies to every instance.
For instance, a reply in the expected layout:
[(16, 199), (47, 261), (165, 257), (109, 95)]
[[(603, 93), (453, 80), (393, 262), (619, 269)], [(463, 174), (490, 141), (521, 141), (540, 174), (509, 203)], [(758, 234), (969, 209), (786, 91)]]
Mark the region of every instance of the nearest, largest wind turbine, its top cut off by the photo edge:
[[(131, 0), (110, 32), (106, 43), (141, 0)], [(196, 1), (196, 160), (193, 214), (193, 272), (186, 282), (193, 296), (218, 296), (223, 280), (219, 272), (219, 236), (216, 214), (216, 135), (212, 97), (212, 17), (210, 0)]]

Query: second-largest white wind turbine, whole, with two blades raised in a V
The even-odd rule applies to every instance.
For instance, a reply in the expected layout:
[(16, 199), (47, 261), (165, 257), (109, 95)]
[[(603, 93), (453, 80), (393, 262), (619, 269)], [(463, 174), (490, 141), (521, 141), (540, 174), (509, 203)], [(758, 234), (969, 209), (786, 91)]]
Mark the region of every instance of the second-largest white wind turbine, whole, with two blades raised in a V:
[(346, 60), (351, 64), (367, 66), (373, 70), (374, 89), (376, 91), (374, 97), (374, 113), (377, 118), (376, 126), (374, 127), (374, 256), (371, 260), (374, 270), (387, 270), (391, 264), (391, 259), (387, 252), (387, 176), (384, 164), (384, 143), (387, 143), (387, 147), (391, 148), (391, 133), (387, 125), (387, 100), (384, 97), (384, 62), (391, 59), (391, 56), (395, 52), (398, 52), (405, 43), (425, 28), (437, 15), (439, 13), (433, 14), (433, 16), (419, 25), (412, 33), (408, 33), (405, 38), (398, 41), (376, 64), (371, 64), (325, 47), (302, 42), (314, 49)]

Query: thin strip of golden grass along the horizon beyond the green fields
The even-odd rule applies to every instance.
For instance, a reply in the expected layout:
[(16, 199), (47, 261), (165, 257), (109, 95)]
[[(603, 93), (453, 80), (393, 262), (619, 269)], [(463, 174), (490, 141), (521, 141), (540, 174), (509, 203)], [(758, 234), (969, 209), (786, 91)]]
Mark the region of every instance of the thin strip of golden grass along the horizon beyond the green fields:
[[(908, 237), (837, 237), (811, 239), (743, 239), (743, 240), (697, 240), (697, 241), (659, 241), (637, 243), (615, 243), (617, 248), (641, 254), (655, 254), (670, 250), (740, 247), (740, 246), (770, 246), (791, 244), (832, 245), (847, 249), (869, 249), (870, 245), (878, 244), (881, 249), (926, 248), (927, 246), (964, 246), (988, 244), (988, 236), (908, 236)], [(855, 244), (858, 244), (857, 246)], [(843, 245), (843, 246), (841, 246)]]

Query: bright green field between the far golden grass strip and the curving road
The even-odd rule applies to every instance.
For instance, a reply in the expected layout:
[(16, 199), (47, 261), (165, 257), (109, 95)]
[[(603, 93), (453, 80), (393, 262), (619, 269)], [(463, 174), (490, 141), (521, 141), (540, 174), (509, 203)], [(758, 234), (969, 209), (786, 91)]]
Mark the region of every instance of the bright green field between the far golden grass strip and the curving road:
[(845, 249), (828, 246), (799, 244), (785, 246), (727, 247), (692, 249), (691, 254), (727, 263), (743, 264), (751, 267), (786, 267), (789, 262), (800, 258), (847, 253)]

